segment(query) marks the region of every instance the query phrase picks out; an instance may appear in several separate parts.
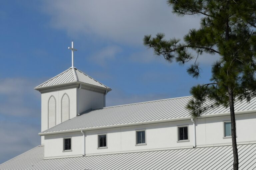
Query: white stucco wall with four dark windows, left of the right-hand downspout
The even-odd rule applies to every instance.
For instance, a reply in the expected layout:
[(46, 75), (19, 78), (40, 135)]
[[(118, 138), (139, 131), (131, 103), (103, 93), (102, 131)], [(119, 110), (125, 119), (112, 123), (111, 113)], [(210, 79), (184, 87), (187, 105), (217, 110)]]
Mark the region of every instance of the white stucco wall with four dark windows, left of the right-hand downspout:
[[(189, 125), (188, 142), (177, 142), (177, 126)], [(135, 146), (135, 130), (146, 129), (147, 145)], [(107, 133), (107, 147), (98, 149), (98, 134)], [(72, 151), (62, 152), (63, 137), (72, 136)], [(108, 128), (85, 131), (86, 154), (99, 154), (120, 151), (134, 151), (157, 148), (193, 146), (193, 126), (191, 121), (139, 125), (122, 128)], [(75, 145), (76, 149), (73, 149)], [(58, 157), (83, 154), (83, 135), (81, 132), (45, 136), (45, 157)]]

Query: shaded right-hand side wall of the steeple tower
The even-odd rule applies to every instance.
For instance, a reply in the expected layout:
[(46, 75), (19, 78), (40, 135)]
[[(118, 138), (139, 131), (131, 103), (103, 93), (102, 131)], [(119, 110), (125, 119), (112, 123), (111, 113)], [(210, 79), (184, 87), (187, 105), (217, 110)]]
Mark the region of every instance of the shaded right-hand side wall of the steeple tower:
[(78, 89), (79, 113), (89, 109), (100, 109), (104, 107), (104, 94), (86, 89)]

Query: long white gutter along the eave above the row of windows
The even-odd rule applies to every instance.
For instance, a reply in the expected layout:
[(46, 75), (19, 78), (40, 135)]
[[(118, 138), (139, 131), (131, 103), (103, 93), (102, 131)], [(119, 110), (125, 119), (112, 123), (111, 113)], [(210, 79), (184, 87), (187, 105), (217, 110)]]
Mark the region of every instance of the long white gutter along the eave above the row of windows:
[[(256, 113), (256, 111), (255, 110), (253, 110), (253, 111), (240, 111), (240, 112), (236, 112), (235, 115), (251, 114), (251, 113)], [(211, 117), (219, 117), (219, 116), (230, 116), (230, 112), (222, 113), (222, 114), (205, 115), (205, 116), (201, 116), (200, 118), (211, 118)], [(134, 125), (145, 125), (145, 124), (164, 123), (164, 122), (173, 122), (173, 121), (182, 121), (182, 120), (191, 120), (191, 117), (175, 118), (175, 119), (168, 119), (168, 120), (148, 121), (148, 122), (138, 122), (138, 123), (123, 124), (123, 125), (110, 125), (110, 126), (104, 126), (104, 127), (70, 129), (70, 130), (52, 131), (52, 132), (40, 132), (38, 134), (40, 136), (44, 136), (44, 135), (48, 135), (48, 134), (58, 134), (58, 133), (66, 133), (66, 132), (78, 132), (78, 131), (81, 131), (81, 130), (96, 130), (96, 129), (106, 129), (106, 128), (118, 128), (118, 127), (128, 127), (128, 126), (134, 126)]]

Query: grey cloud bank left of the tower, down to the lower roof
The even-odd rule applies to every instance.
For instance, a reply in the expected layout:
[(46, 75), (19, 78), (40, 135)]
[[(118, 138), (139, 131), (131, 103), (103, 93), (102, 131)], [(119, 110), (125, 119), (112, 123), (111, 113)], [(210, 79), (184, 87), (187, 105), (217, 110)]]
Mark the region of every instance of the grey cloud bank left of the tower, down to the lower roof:
[(0, 163), (40, 144), (40, 79), (0, 79)]

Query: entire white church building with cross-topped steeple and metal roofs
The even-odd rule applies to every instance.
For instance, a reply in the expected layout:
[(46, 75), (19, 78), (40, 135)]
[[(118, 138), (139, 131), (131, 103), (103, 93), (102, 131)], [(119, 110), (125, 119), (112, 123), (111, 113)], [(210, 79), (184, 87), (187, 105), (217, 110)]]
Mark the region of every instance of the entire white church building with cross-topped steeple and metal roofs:
[[(72, 58), (73, 51), (72, 47)], [(229, 108), (192, 119), (191, 96), (106, 107), (112, 89), (72, 67), (35, 87), (41, 145), (0, 170), (232, 169)], [(239, 169), (256, 169), (256, 98), (235, 104)]]

